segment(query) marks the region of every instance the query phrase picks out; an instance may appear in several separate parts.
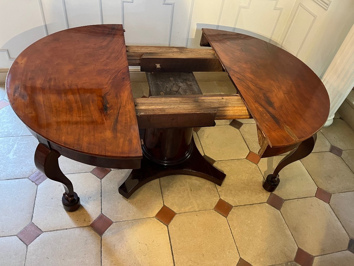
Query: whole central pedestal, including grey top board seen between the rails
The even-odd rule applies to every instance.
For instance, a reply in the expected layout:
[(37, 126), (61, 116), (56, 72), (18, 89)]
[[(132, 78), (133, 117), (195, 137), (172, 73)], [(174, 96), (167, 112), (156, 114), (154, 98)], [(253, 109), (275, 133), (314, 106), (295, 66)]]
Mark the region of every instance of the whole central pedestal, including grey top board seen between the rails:
[[(149, 96), (202, 94), (192, 72), (146, 74)], [(147, 128), (141, 138), (141, 167), (132, 170), (118, 190), (125, 198), (156, 178), (175, 174), (201, 177), (217, 185), (224, 181), (226, 175), (199, 153), (193, 140), (193, 127)]]

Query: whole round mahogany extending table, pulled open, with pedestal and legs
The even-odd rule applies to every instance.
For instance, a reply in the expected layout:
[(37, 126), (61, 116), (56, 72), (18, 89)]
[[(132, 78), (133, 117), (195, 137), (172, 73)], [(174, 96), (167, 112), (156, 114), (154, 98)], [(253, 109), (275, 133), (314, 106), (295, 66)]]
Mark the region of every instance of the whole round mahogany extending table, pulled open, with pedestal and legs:
[[(120, 187), (120, 193), (129, 197), (141, 185), (171, 173), (221, 185), (225, 175), (195, 152), (190, 139), (191, 128), (214, 126), (218, 119), (253, 117), (259, 157), (292, 150), (267, 177), (263, 184), (267, 191), (279, 184), (282, 168), (311, 153), (330, 103), (326, 88), (308, 66), (273, 44), (234, 32), (202, 29), (201, 46), (212, 49), (126, 46), (122, 25), (104, 24), (53, 33), (16, 58), (6, 79), (8, 99), (39, 141), (36, 167), (64, 185), (65, 210), (78, 209), (80, 199), (58, 166), (61, 155), (100, 167), (142, 167)], [(149, 85), (159, 79), (165, 88), (154, 87), (151, 97), (133, 99), (129, 66), (141, 66)], [(196, 71), (226, 71), (239, 94), (190, 95), (200, 94), (190, 73)], [(168, 73), (154, 74), (158, 72)], [(189, 85), (180, 89), (187, 84), (184, 79)], [(154, 96), (158, 90), (161, 95)], [(139, 136), (139, 129), (146, 129), (145, 137)], [(185, 151), (167, 143), (167, 135), (178, 134), (188, 136), (188, 143), (181, 144)], [(152, 139), (185, 154), (174, 161), (157, 160), (147, 154), (144, 143)], [(165, 154), (156, 147), (149, 150)], [(193, 160), (205, 167), (194, 168)], [(151, 171), (143, 170), (154, 164)], [(143, 176), (144, 171), (152, 174)]]

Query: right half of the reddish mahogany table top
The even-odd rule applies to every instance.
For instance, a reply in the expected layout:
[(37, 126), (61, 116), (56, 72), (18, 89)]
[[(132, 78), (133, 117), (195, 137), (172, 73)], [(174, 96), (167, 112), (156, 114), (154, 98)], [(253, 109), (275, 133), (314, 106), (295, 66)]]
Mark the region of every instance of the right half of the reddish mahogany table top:
[(326, 122), (330, 101), (320, 78), (301, 60), (266, 41), (202, 29), (270, 147), (301, 143)]

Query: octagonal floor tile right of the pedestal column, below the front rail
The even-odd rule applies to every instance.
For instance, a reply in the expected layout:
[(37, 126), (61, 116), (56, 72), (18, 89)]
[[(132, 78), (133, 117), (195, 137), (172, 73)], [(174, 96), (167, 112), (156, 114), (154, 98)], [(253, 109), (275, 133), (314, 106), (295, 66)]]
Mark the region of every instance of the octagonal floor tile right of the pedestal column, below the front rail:
[(197, 133), (204, 153), (216, 161), (243, 159), (249, 153), (240, 131), (232, 126), (203, 127)]

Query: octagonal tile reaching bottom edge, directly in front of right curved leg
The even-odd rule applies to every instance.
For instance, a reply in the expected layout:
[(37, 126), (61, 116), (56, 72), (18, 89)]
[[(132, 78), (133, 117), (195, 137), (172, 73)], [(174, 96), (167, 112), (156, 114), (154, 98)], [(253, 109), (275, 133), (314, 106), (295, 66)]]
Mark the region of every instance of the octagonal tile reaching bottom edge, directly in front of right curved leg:
[(268, 204), (234, 207), (229, 221), (242, 259), (254, 266), (292, 261), (297, 245), (280, 212)]

